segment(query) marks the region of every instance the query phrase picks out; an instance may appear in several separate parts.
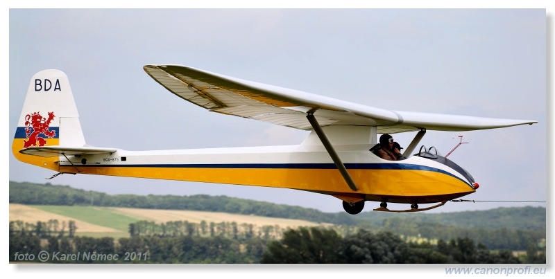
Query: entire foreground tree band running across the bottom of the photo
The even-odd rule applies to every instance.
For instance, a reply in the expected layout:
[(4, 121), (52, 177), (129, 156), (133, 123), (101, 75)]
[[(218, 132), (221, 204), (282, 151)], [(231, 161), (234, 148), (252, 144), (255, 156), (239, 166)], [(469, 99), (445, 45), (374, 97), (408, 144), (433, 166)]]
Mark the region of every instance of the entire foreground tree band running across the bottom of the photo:
[[(48, 253), (41, 261), (37, 255)], [(545, 252), (530, 246), (517, 258), (490, 251), (468, 237), (437, 244), (406, 242), (390, 232), (360, 230), (341, 236), (330, 228), (288, 229), (279, 240), (221, 235), (46, 236), (10, 232), (10, 262), (51, 263), (263, 263), (263, 264), (518, 264), (545, 263)], [(33, 257), (28, 257), (33, 255)], [(75, 255), (78, 255), (75, 257)], [(87, 257), (85, 257), (87, 255)]]

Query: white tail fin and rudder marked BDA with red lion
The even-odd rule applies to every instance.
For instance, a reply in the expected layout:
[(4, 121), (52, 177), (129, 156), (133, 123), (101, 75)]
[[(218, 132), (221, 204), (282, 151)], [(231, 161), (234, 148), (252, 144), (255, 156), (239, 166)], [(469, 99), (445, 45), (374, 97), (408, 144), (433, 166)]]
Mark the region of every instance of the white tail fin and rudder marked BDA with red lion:
[(19, 161), (58, 170), (58, 156), (31, 156), (19, 152), (28, 147), (50, 145), (85, 145), (69, 80), (58, 70), (40, 71), (31, 78), (12, 153)]

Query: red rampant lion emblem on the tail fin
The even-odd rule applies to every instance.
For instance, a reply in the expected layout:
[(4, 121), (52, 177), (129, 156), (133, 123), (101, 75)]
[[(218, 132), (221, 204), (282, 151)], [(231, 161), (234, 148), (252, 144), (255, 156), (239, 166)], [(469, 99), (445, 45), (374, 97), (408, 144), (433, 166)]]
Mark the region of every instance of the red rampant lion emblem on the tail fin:
[[(40, 115), (40, 111), (33, 112), (33, 114), (27, 114), (25, 116), (25, 135), (28, 141), (23, 140), (23, 148), (31, 146), (44, 146), (46, 144), (46, 139), (39, 138), (40, 134), (44, 134), (49, 138), (56, 136), (55, 130), (50, 130), (50, 123), (54, 119), (54, 113), (48, 113), (48, 119)], [(31, 128), (33, 132), (31, 132)]]

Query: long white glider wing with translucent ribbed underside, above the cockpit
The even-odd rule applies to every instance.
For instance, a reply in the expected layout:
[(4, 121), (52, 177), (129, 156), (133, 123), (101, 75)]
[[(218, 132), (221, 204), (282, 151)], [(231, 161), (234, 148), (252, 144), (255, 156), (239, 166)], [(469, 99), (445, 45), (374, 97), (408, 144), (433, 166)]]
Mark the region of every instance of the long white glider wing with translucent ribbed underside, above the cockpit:
[(376, 126), (380, 134), (469, 131), (537, 123), (379, 109), (303, 91), (232, 78), (179, 65), (146, 65), (144, 71), (176, 96), (210, 111), (311, 130), (307, 114), (321, 126)]

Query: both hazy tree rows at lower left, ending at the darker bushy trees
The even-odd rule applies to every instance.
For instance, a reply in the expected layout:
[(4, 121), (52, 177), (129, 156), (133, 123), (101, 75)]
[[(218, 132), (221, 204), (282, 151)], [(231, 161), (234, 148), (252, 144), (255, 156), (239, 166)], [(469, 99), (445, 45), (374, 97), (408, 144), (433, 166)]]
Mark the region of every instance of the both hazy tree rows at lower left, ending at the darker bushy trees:
[[(194, 223), (153, 226), (153, 222), (136, 222), (129, 226), (130, 237), (114, 240), (77, 236), (73, 221), (68, 222), (71, 230), (67, 233), (53, 219), (37, 223), (10, 221), (10, 262), (258, 263), (269, 235), (255, 233), (255, 226), (248, 225), (247, 232), (252, 235), (237, 233), (237, 237), (232, 237), (228, 229), (231, 223), (223, 223), (203, 222), (205, 235), (199, 235), (203, 226), (199, 225), (198, 231), (191, 229)], [(49, 255), (47, 260), (38, 257), (44, 252)]]

